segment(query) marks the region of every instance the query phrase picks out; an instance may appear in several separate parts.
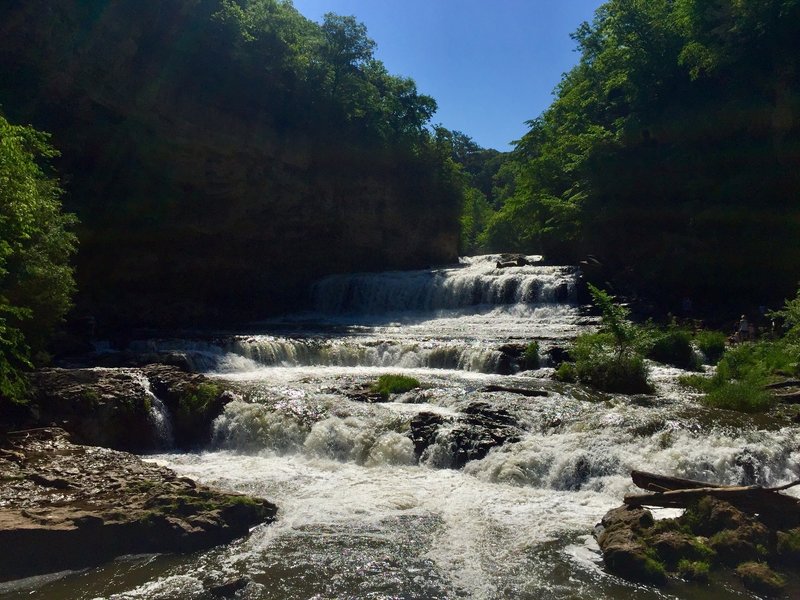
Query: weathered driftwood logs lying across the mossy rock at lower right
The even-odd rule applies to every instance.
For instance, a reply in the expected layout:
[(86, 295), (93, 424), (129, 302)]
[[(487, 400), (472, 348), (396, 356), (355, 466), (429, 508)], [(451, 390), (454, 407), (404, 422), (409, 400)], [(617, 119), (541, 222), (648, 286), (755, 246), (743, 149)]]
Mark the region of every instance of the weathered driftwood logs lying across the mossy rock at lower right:
[(800, 498), (778, 493), (800, 485), (800, 480), (765, 488), (759, 485), (721, 486), (644, 471), (634, 471), (631, 477), (638, 487), (656, 493), (628, 494), (623, 499), (628, 506), (687, 508), (701, 498), (711, 496), (729, 502), (748, 513), (775, 513), (793, 521), (800, 521)]

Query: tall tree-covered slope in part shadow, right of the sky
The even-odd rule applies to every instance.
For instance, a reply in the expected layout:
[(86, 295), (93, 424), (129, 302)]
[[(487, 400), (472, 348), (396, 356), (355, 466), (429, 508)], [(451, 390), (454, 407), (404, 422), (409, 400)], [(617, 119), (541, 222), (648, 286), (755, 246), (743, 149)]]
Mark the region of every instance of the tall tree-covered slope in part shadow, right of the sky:
[(591, 254), (665, 300), (781, 297), (800, 263), (798, 22), (798, 0), (605, 2), (504, 167), (488, 249)]

